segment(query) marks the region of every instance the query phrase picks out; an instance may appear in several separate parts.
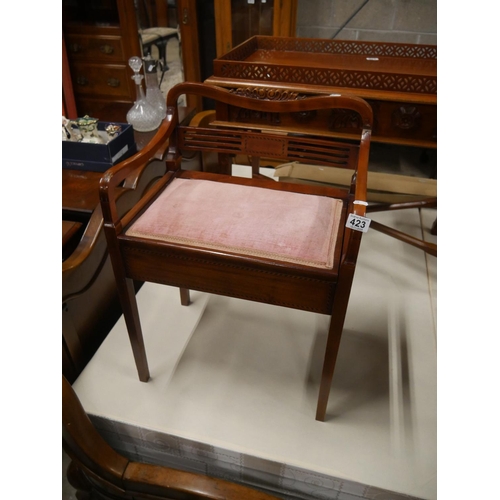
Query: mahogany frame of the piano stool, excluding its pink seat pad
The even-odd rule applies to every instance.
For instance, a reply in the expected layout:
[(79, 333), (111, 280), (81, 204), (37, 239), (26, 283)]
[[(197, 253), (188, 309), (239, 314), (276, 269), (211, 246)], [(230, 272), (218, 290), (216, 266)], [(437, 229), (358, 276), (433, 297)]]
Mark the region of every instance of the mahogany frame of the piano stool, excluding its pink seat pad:
[[(255, 129), (245, 131), (234, 127), (182, 126), (179, 124), (176, 103), (178, 97), (184, 94), (222, 102), (228, 110), (248, 110), (252, 116), (265, 117), (266, 126), (261, 127), (258, 132)], [(317, 126), (312, 126), (315, 113), (318, 110), (329, 110), (333, 114), (339, 108), (359, 115), (362, 131), (357, 141), (338, 139), (336, 134), (330, 133), (328, 124), (331, 122), (328, 120), (319, 119), (319, 123), (323, 123), (322, 134), (315, 134)], [(307, 124), (300, 133), (296, 128), (287, 132), (284, 117), (290, 114), (295, 114), (298, 119), (307, 118)], [(363, 99), (349, 95), (270, 100), (265, 96), (263, 98), (240, 95), (227, 89), (199, 83), (182, 83), (170, 90), (167, 97), (167, 117), (145, 148), (147, 155), (155, 155), (158, 144), (168, 137), (169, 145), (164, 155), (166, 174), (124, 216), (118, 212), (115, 193), (122, 181), (138, 168), (138, 159), (132, 157), (111, 168), (100, 182), (100, 200), (108, 249), (141, 381), (147, 381), (150, 373), (139, 311), (131, 287), (133, 280), (179, 287), (181, 301), (186, 304), (189, 302), (186, 290), (191, 288), (320, 312), (331, 315), (316, 412), (318, 420), (325, 419), (361, 241), (361, 233), (347, 228), (345, 220), (348, 213), (363, 216), (366, 211), (364, 202), (372, 119), (370, 106)], [(353, 173), (352, 182), (346, 189), (340, 189), (275, 182), (257, 177), (242, 179), (217, 173), (183, 171), (180, 168), (183, 150), (218, 153), (226, 160), (236, 155), (248, 155), (252, 157), (254, 167), (258, 166), (255, 159), (262, 155), (274, 158), (295, 158), (298, 155), (306, 160), (314, 157), (327, 167), (338, 167), (341, 164), (343, 168), (350, 169)], [(334, 249), (333, 267), (320, 269), (272, 258), (251, 257), (234, 251), (214, 251), (196, 245), (165, 243), (125, 234), (136, 218), (147, 211), (160, 193), (169, 189), (172, 181), (177, 178), (203, 179), (222, 184), (240, 184), (342, 200), (343, 211)], [(354, 203), (355, 200), (361, 203)], [(165, 216), (175, 217), (175, 213)]]

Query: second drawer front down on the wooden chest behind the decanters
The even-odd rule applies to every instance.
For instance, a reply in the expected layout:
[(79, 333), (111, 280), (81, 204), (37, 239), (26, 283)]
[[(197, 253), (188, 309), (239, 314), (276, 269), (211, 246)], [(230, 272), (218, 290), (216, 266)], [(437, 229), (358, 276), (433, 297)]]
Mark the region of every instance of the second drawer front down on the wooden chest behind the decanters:
[[(124, 65), (74, 63), (71, 67), (75, 94), (93, 97), (132, 97), (132, 79)], [(130, 81), (129, 81), (130, 80)]]

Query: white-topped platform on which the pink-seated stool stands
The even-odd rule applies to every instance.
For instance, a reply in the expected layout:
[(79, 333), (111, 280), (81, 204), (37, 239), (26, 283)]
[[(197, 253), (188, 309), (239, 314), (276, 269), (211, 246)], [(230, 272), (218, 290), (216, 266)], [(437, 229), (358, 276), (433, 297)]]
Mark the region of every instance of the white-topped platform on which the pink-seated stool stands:
[[(435, 210), (373, 218), (426, 238)], [(327, 412), (315, 421), (328, 318), (145, 284), (152, 379), (121, 319), (75, 382), (110, 443), (134, 458), (283, 498), (436, 498), (436, 259), (363, 237)]]

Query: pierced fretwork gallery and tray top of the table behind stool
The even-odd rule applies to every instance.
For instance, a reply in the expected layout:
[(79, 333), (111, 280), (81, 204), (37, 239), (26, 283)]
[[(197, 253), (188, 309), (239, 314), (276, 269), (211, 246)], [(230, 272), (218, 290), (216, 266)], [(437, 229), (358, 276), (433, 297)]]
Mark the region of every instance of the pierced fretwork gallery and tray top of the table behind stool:
[[(371, 68), (336, 68), (330, 64), (314, 67), (306, 62), (290, 63), (293, 54), (301, 61), (306, 61), (308, 55), (410, 59), (413, 71), (416, 68), (421, 71), (381, 72)], [(257, 36), (216, 59), (214, 74), (250, 81), (436, 94), (436, 75), (427, 72), (429, 68), (432, 70), (436, 59), (435, 45)]]

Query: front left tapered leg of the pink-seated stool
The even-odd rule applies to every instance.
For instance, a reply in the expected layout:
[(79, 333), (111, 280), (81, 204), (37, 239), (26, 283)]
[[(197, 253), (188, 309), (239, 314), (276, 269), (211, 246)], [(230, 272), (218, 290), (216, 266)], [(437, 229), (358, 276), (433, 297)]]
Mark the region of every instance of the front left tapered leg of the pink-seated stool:
[(134, 354), (135, 365), (141, 382), (149, 380), (148, 360), (146, 358), (146, 348), (142, 336), (141, 323), (139, 321), (139, 311), (135, 298), (134, 282), (130, 278), (123, 278), (121, 286), (118, 285), (118, 295), (122, 306), (123, 317), (127, 325), (128, 336), (132, 352)]

